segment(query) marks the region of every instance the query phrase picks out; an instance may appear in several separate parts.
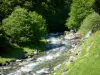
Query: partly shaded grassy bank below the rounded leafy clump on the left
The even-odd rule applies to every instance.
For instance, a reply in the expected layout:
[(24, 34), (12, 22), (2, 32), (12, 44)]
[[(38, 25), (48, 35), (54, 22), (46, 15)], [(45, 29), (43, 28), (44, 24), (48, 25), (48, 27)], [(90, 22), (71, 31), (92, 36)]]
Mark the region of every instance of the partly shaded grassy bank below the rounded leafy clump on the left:
[(45, 45), (45, 40), (41, 40), (37, 45), (30, 43), (21, 45), (13, 44), (8, 52), (0, 53), (0, 63), (5, 64), (12, 60), (22, 59), (25, 53), (31, 55), (35, 50), (43, 51), (45, 50)]

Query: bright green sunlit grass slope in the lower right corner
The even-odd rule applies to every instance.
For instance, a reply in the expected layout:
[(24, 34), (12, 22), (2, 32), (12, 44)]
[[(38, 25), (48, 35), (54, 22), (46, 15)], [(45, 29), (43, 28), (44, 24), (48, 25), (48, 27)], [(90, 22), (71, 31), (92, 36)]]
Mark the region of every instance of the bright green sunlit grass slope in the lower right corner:
[(85, 40), (80, 58), (67, 75), (100, 75), (100, 31)]

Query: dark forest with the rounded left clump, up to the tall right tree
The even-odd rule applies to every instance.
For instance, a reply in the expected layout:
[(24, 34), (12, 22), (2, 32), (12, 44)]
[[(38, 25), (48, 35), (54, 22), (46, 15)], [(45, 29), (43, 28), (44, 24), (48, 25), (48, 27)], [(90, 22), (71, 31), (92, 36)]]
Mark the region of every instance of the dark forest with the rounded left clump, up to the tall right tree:
[(71, 0), (0, 0), (0, 48), (6, 50), (9, 43), (37, 43), (48, 32), (68, 30), (65, 23), (71, 3)]

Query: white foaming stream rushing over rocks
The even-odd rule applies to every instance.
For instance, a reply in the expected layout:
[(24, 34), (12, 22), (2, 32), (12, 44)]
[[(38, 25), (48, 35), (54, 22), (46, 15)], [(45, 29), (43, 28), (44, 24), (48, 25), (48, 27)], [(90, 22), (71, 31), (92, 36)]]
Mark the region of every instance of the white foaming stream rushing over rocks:
[(34, 57), (22, 62), (17, 60), (16, 64), (2, 70), (3, 75), (45, 75), (44, 73), (50, 73), (55, 66), (66, 61), (71, 41), (64, 40), (59, 33), (50, 33), (46, 35), (46, 39), (48, 43), (43, 56), (35, 60)]

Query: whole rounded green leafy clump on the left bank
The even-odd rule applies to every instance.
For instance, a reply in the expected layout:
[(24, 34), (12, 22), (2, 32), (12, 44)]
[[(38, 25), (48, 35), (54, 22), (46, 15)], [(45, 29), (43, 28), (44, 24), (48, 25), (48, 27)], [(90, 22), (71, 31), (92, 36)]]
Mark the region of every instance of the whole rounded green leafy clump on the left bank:
[(17, 7), (3, 20), (2, 28), (14, 42), (35, 42), (45, 34), (46, 22), (36, 12), (28, 13), (26, 9)]

